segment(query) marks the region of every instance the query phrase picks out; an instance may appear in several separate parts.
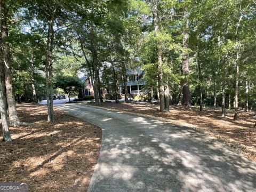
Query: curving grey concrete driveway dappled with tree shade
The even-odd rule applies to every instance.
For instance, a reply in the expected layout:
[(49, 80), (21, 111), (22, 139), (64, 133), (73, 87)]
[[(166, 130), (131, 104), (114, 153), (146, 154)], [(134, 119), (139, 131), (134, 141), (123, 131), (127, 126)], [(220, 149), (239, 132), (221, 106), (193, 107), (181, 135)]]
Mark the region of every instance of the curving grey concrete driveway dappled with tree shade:
[(69, 104), (61, 108), (101, 127), (88, 191), (256, 191), (256, 164), (188, 127)]

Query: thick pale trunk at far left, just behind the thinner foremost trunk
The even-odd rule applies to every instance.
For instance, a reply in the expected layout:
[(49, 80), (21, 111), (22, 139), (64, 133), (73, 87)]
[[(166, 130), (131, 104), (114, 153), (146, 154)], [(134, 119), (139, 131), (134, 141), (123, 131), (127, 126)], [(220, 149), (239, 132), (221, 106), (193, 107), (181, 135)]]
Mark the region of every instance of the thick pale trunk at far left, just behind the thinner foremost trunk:
[(12, 69), (11, 69), (11, 55), (10, 55), (10, 45), (6, 41), (8, 38), (8, 28), (7, 28), (7, 15), (8, 10), (6, 9), (3, 2), (1, 2), (1, 36), (3, 39), (2, 44), (2, 53), (3, 53), (3, 67), (5, 67), (5, 89), (6, 89), (6, 98), (7, 98), (7, 106), (9, 111), (9, 123), (13, 126), (17, 126), (19, 124), (19, 118), (17, 115), (16, 102), (12, 87)]

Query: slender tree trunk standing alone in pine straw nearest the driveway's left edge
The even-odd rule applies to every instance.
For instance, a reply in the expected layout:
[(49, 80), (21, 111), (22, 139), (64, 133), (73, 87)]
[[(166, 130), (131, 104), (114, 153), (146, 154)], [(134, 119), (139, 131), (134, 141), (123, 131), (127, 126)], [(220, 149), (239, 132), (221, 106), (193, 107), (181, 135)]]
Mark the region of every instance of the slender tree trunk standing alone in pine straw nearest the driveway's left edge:
[(46, 44), (46, 89), (47, 89), (47, 121), (54, 120), (53, 114), (53, 85), (52, 85), (52, 52), (53, 52), (53, 41), (54, 41), (54, 18), (49, 22), (47, 44)]

